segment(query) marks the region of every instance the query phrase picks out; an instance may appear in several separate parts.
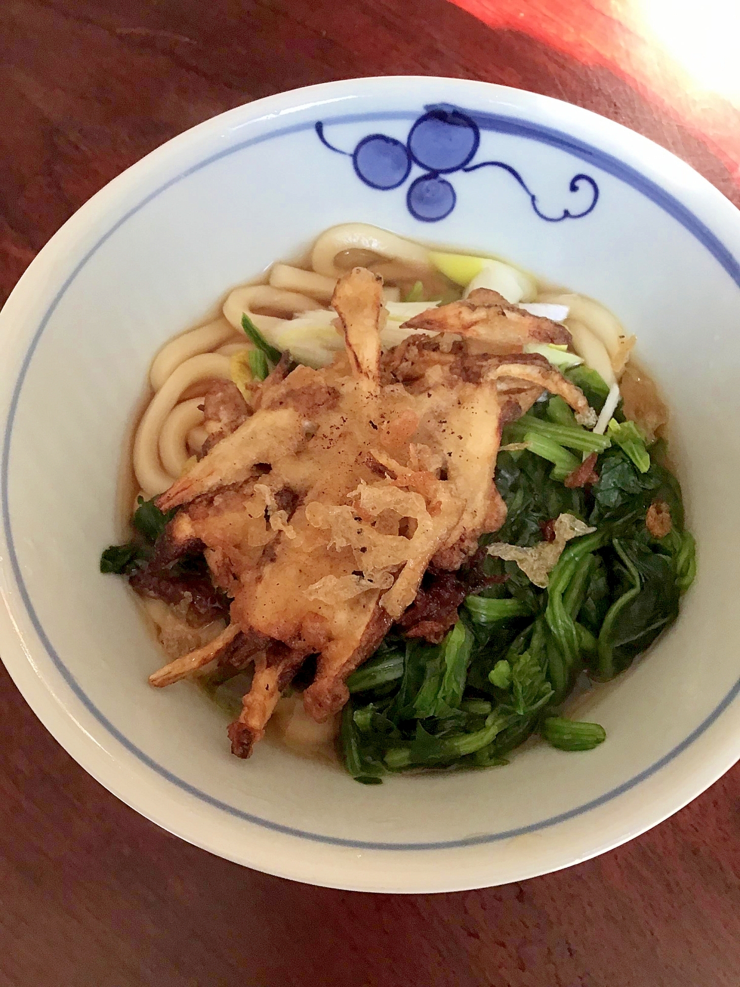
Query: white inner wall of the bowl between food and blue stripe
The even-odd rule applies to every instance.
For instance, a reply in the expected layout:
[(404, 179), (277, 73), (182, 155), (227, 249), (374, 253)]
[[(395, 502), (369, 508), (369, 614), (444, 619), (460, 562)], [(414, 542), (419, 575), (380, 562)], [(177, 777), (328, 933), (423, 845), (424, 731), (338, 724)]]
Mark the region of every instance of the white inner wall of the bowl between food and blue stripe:
[[(402, 138), (417, 110), (404, 113), (335, 121), (333, 139), (351, 149), (379, 127)], [(167, 162), (154, 169), (117, 205), (49, 308), (12, 420), (8, 468), (17, 576), (50, 648), (35, 660), (50, 680), (63, 669), (85, 697), (99, 743), (114, 729), (147, 770), (238, 817), (394, 845), (537, 827), (655, 770), (738, 677), (727, 649), (740, 634), (731, 523), (740, 475), (732, 426), (740, 412), (738, 286), (694, 232), (597, 164), (588, 170), (598, 205), (581, 219), (543, 221), (506, 174), (481, 169), (456, 177), (454, 210), (431, 225), (408, 211), (404, 190), (359, 182), (350, 159), (329, 151), (304, 117), (292, 129), (270, 124), (256, 143), (232, 135), (228, 153), (216, 157), (204, 140), (194, 147), (197, 167), (183, 174)], [(584, 167), (515, 134), (481, 133), (481, 153), (526, 174), (543, 210), (561, 207), (563, 189)], [(649, 655), (577, 701), (579, 716), (607, 730), (595, 751), (533, 742), (505, 768), (365, 788), (338, 765), (267, 742), (240, 761), (229, 753), (223, 715), (201, 693), (187, 683), (147, 685), (161, 655), (127, 587), (98, 565), (116, 538), (121, 444), (151, 358), (229, 288), (349, 220), (508, 258), (599, 299), (636, 334), (639, 358), (667, 396), (699, 576), (677, 625)]]

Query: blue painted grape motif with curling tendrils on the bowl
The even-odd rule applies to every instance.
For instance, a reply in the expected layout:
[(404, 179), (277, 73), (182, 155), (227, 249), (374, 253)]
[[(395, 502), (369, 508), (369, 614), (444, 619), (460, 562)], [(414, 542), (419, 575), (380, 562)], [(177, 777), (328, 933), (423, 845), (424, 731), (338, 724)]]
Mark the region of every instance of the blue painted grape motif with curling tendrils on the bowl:
[(559, 216), (546, 214), (538, 204), (537, 195), (511, 165), (503, 161), (472, 163), (481, 144), (481, 130), (472, 116), (454, 107), (427, 108), (427, 112), (413, 122), (406, 143), (384, 133), (371, 133), (350, 153), (327, 140), (321, 120), (316, 123), (316, 133), (325, 147), (352, 159), (357, 178), (371, 189), (399, 189), (406, 183), (411, 169), (420, 168), (422, 174), (408, 186), (406, 201), (411, 215), (424, 223), (439, 222), (455, 208), (455, 189), (442, 176), (455, 172), (469, 174), (479, 168), (497, 168), (509, 174), (529, 196), (535, 213), (548, 223), (587, 216), (599, 198), (599, 187), (589, 175), (574, 175), (568, 190), (577, 192), (584, 185), (588, 186), (592, 193), (590, 204), (581, 212), (563, 209)]

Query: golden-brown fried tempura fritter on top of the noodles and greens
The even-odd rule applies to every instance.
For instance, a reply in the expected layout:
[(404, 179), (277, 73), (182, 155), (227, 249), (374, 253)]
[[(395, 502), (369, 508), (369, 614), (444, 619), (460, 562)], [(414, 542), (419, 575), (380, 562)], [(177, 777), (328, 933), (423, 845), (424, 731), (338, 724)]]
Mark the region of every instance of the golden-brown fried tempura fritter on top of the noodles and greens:
[(590, 411), (544, 357), (523, 352), (527, 342), (568, 343), (567, 331), (496, 292), (407, 323), (462, 342), (419, 335), (383, 355), (380, 277), (355, 267), (339, 278), (333, 307), (345, 353), (322, 370), (286, 374), (281, 361), (255, 389), (253, 414), (158, 500), (162, 510), (181, 507), (160, 551), (176, 559), (201, 546), (233, 602), (218, 639), (150, 681), (177, 681), (239, 643), (240, 660), (256, 669), (229, 728), (240, 757), (309, 654), (317, 672), (304, 704), (325, 721), (429, 565), (459, 569), (481, 533), (503, 524), (493, 473), (507, 421), (544, 390)]

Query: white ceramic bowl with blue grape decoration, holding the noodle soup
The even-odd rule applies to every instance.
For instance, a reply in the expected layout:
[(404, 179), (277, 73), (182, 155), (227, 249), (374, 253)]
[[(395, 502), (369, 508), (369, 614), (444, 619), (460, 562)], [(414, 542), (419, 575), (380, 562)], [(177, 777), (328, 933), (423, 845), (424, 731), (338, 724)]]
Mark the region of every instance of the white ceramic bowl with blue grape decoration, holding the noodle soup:
[[(435, 143), (427, 119), (411, 150), (427, 169), (455, 171), (411, 186), (424, 174), (413, 163), (385, 190), (360, 179), (353, 161), (375, 186), (403, 179), (409, 130), (439, 104), (465, 116), (457, 142)], [(377, 133), (399, 141), (386, 141), (385, 165), (372, 141), (354, 159), (331, 149), (351, 152)], [(499, 166), (462, 171), (463, 158)], [(584, 214), (542, 218), (564, 209)], [(121, 442), (152, 354), (228, 288), (348, 220), (509, 258), (600, 299), (637, 335), (668, 396), (699, 577), (671, 632), (585, 700), (609, 734), (595, 751), (534, 745), (505, 769), (366, 788), (267, 743), (240, 761), (197, 690), (147, 685), (160, 654), (98, 560), (115, 536)], [(0, 651), (11, 675), (112, 793), (262, 871), (452, 890), (554, 871), (629, 840), (740, 756), (738, 257), (740, 214), (687, 165), (531, 93), (359, 79), (187, 131), (83, 206), (0, 316)]]

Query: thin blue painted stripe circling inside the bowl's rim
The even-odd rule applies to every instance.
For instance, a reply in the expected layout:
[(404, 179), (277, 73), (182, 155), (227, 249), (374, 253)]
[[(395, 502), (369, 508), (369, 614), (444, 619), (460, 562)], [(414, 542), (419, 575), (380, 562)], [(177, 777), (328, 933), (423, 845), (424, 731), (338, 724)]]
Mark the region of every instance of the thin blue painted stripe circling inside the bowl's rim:
[[(428, 108), (427, 108), (428, 109)], [(455, 108), (462, 109), (462, 108)], [(536, 140), (539, 143), (550, 145), (551, 147), (556, 147), (559, 150), (565, 151), (566, 153), (572, 155), (573, 157), (580, 158), (583, 161), (587, 161), (592, 166), (600, 168), (602, 171), (613, 175), (620, 181), (629, 185), (632, 189), (640, 192), (650, 201), (658, 205), (664, 212), (672, 216), (677, 220), (689, 233), (691, 233), (706, 250), (709, 251), (711, 256), (724, 268), (724, 270), (729, 274), (735, 284), (740, 287), (740, 264), (734, 256), (727, 250), (727, 248), (717, 239), (716, 236), (709, 230), (703, 222), (691, 212), (682, 202), (671, 195), (669, 192), (660, 188), (652, 180), (647, 179), (645, 176), (641, 175), (635, 169), (631, 168), (629, 165), (620, 161), (618, 158), (613, 157), (598, 148), (593, 147), (583, 141), (577, 140), (568, 134), (555, 130), (551, 127), (542, 126), (537, 123), (532, 123), (529, 120), (505, 116), (499, 114), (488, 114), (479, 113), (476, 111), (463, 110), (463, 113), (469, 114), (474, 117), (478, 125), (482, 130), (491, 130), (497, 133), (506, 133), (513, 136), (524, 137), (529, 140)], [(391, 113), (373, 113), (373, 114), (346, 114), (343, 116), (334, 117), (333, 124), (341, 123), (354, 123), (354, 122), (369, 122), (377, 120), (413, 120), (417, 116), (414, 112), (391, 112)], [(53, 662), (56, 669), (59, 671), (60, 675), (70, 687), (74, 695), (80, 700), (83, 706), (95, 717), (97, 721), (104, 726), (111, 735), (117, 740), (123, 747), (126, 748), (131, 754), (134, 755), (139, 761), (145, 764), (148, 768), (151, 768), (158, 775), (164, 778), (166, 781), (177, 786), (183, 792), (198, 798), (200, 801), (205, 802), (214, 808), (221, 809), (222, 811), (228, 813), (229, 815), (235, 816), (236, 818), (243, 819), (246, 822), (254, 823), (255, 825), (261, 826), (264, 829), (272, 830), (273, 832), (283, 833), (288, 836), (296, 836), (305, 840), (310, 840), (315, 843), (329, 844), (332, 846), (340, 847), (351, 847), (360, 850), (452, 850), (462, 847), (473, 847), (480, 846), (486, 843), (495, 843), (500, 840), (506, 840), (513, 836), (521, 836), (524, 833), (533, 833), (542, 829), (547, 829), (551, 826), (555, 826), (560, 822), (565, 822), (568, 819), (573, 819), (576, 816), (582, 815), (591, 809), (598, 808), (600, 805), (604, 805), (612, 799), (629, 792), (630, 789), (639, 785), (641, 782), (650, 778), (656, 772), (660, 771), (661, 768), (665, 767), (676, 757), (678, 757), (683, 751), (691, 746), (696, 739), (698, 739), (703, 732), (716, 721), (721, 714), (727, 709), (727, 707), (733, 702), (733, 700), (740, 693), (740, 679), (735, 683), (735, 685), (730, 689), (724, 699), (718, 704), (718, 706), (700, 723), (700, 725), (693, 730), (688, 737), (677, 744), (672, 750), (665, 754), (662, 758), (656, 761), (654, 764), (650, 765), (644, 771), (641, 771), (638, 775), (635, 775), (629, 781), (617, 786), (605, 793), (604, 795), (594, 798), (591, 801), (585, 802), (583, 805), (579, 805), (576, 808), (569, 809), (567, 812), (561, 812), (558, 815), (550, 816), (547, 819), (543, 819), (540, 822), (531, 823), (527, 826), (520, 826), (516, 829), (503, 830), (498, 833), (483, 834), (480, 836), (470, 836), (465, 837), (460, 840), (448, 840), (448, 841), (438, 841), (432, 843), (381, 843), (363, 840), (347, 840), (339, 837), (326, 836), (321, 833), (307, 832), (302, 829), (296, 829), (292, 826), (284, 826), (281, 823), (272, 822), (269, 819), (263, 819), (260, 816), (253, 815), (251, 812), (245, 812), (242, 809), (237, 808), (234, 805), (229, 805), (226, 802), (221, 801), (218, 798), (209, 796), (205, 792), (201, 792), (199, 789), (185, 782), (182, 778), (178, 778), (172, 772), (168, 771), (167, 768), (158, 764), (154, 761), (148, 754), (144, 753), (139, 747), (132, 743), (120, 730), (115, 727), (111, 721), (103, 714), (101, 710), (92, 702), (92, 700), (83, 691), (75, 677), (72, 675), (71, 671), (62, 661), (61, 657), (55, 650), (54, 646), (49, 641), (46, 636), (36, 610), (34, 609), (33, 603), (31, 602), (31, 597), (29, 595), (26, 583), (23, 578), (23, 573), (18, 560), (18, 555), (15, 548), (15, 543), (13, 539), (13, 531), (11, 527), (11, 517), (10, 517), (10, 504), (9, 504), (9, 471), (10, 471), (10, 452), (11, 452), (11, 440), (13, 424), (15, 422), (16, 413), (18, 411), (18, 404), (20, 401), (21, 391), (26, 379), (26, 375), (31, 364), (34, 352), (36, 351), (37, 344), (48, 325), (51, 316), (56, 310), (59, 302), (63, 298), (69, 286), (75, 280), (82, 268), (88, 263), (88, 261), (93, 257), (93, 255), (111, 238), (113, 233), (118, 230), (131, 216), (139, 212), (145, 205), (151, 202), (154, 198), (160, 195), (163, 191), (170, 189), (172, 186), (177, 185), (179, 182), (183, 181), (195, 172), (206, 168), (208, 165), (220, 160), (221, 158), (228, 157), (231, 154), (235, 154), (238, 151), (244, 150), (248, 147), (254, 147), (257, 144), (261, 144), (264, 141), (272, 140), (275, 137), (282, 137), (287, 134), (297, 133), (303, 130), (313, 130), (314, 123), (297, 123), (292, 126), (283, 127), (279, 130), (272, 131), (267, 134), (262, 134), (259, 137), (253, 137), (249, 140), (235, 144), (233, 147), (226, 148), (223, 151), (219, 151), (216, 154), (211, 155), (205, 160), (198, 162), (192, 167), (186, 169), (184, 172), (170, 179), (159, 189), (151, 192), (145, 198), (143, 198), (137, 205), (129, 209), (120, 219), (111, 226), (111, 229), (105, 233), (100, 240), (88, 251), (88, 253), (83, 257), (80, 263), (74, 268), (72, 273), (67, 277), (67, 279), (62, 284), (61, 288), (57, 292), (53, 301), (49, 305), (47, 311), (45, 312), (41, 322), (38, 326), (37, 332), (35, 333), (28, 351), (24, 357), (23, 363), (21, 365), (21, 371), (16, 383), (16, 387), (13, 392), (13, 397), (10, 405), (10, 412), (8, 415), (8, 421), (6, 424), (5, 435), (3, 437), (3, 451), (2, 451), (2, 467), (0, 470), (0, 496), (2, 497), (2, 518), (3, 526), (5, 529), (5, 536), (8, 542), (8, 552), (10, 557), (11, 567), (18, 584), (21, 597), (23, 599), (24, 605), (28, 612), (29, 619), (38, 635), (39, 640), (45, 647), (48, 656)], [(349, 779), (347, 779), (349, 783)]]

